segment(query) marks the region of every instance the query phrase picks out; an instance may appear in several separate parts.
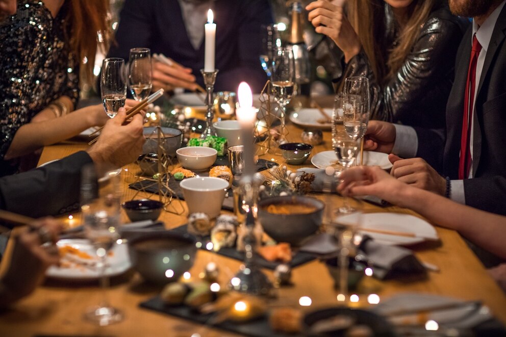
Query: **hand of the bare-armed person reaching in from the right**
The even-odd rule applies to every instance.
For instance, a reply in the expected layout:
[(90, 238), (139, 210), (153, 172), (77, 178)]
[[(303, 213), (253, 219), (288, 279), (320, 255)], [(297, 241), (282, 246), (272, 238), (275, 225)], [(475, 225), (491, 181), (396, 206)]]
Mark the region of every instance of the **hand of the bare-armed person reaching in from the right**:
[(349, 196), (375, 195), (390, 203), (406, 207), (405, 193), (410, 187), (378, 166), (351, 167), (339, 175), (339, 193)]

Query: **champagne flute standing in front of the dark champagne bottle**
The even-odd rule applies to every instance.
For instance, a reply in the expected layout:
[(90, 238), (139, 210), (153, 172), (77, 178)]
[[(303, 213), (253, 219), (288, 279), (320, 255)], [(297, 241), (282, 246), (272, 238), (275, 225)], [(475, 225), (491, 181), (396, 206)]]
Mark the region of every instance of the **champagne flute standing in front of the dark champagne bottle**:
[(272, 62), (272, 90), (274, 98), (281, 106), (281, 136), (278, 142), (283, 144), (285, 138), (286, 106), (290, 102), (295, 83), (295, 63), (290, 48), (277, 48)]

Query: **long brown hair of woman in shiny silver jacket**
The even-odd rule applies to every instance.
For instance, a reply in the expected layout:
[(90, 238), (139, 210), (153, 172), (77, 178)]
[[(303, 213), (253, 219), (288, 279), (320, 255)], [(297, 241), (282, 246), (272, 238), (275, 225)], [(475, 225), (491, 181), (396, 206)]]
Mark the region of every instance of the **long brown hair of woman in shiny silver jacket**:
[(385, 6), (389, 5), (385, 4), (384, 0), (347, 2), (348, 19), (355, 28), (380, 83), (391, 79), (400, 69), (429, 14), (442, 3), (443, 0), (414, 0), (408, 8), (408, 21), (399, 32), (398, 43), (388, 49), (385, 37)]

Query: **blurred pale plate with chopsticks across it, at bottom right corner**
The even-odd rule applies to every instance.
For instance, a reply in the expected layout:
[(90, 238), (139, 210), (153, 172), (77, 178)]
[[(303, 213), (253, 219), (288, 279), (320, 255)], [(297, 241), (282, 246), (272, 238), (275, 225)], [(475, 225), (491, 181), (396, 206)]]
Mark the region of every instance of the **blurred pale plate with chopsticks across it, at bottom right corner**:
[[(417, 293), (394, 295), (377, 304), (373, 311), (380, 315), (388, 315), (401, 310), (422, 311), (452, 304), (456, 304), (458, 307), (429, 311), (424, 319), (434, 320), (444, 326), (471, 328), (492, 318), (490, 310), (479, 304), (465, 304), (465, 301), (457, 298)], [(459, 306), (461, 304), (462, 306)], [(419, 324), (419, 316), (416, 314), (392, 316), (389, 320), (394, 324)]]

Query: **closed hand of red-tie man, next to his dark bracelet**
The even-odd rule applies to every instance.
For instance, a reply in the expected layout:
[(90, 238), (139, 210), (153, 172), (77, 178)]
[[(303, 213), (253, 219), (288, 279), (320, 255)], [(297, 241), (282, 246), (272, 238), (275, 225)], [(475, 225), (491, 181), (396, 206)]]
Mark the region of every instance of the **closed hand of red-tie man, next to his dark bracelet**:
[(423, 159), (401, 159), (395, 154), (389, 154), (388, 159), (393, 164), (390, 174), (401, 182), (442, 196), (445, 195), (446, 179)]

